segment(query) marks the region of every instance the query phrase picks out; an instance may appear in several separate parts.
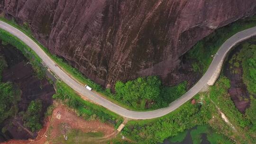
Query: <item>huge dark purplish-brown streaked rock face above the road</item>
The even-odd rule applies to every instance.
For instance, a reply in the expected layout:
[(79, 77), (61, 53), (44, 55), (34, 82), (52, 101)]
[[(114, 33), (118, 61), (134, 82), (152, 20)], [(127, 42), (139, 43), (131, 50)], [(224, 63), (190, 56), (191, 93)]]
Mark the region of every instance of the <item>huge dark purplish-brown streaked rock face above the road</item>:
[(255, 7), (255, 0), (0, 0), (7, 16), (105, 87), (147, 75), (183, 81), (179, 57)]

